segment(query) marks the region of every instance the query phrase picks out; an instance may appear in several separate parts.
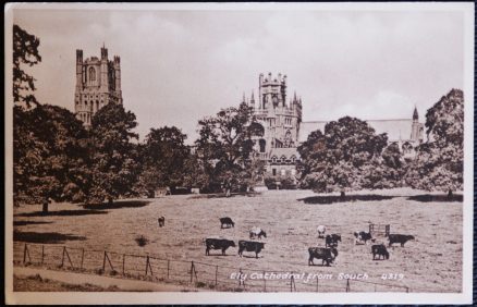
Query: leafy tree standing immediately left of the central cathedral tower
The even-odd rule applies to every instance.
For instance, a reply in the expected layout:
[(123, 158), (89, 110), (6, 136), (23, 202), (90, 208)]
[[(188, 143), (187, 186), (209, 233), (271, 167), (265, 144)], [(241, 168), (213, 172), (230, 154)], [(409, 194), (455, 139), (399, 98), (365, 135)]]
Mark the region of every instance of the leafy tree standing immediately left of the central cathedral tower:
[(197, 154), (208, 177), (208, 186), (223, 186), (228, 196), (252, 177), (247, 170), (253, 152), (253, 136), (260, 135), (253, 110), (246, 103), (221, 110), (199, 121)]

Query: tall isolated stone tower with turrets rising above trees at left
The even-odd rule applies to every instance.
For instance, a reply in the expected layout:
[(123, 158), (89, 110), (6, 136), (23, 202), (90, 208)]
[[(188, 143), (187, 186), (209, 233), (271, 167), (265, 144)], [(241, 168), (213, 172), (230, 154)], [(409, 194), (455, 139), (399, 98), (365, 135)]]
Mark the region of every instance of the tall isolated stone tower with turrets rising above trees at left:
[(109, 102), (123, 103), (121, 93), (120, 57), (108, 59), (108, 49), (101, 48), (101, 58), (83, 60), (83, 50), (76, 50), (76, 89), (74, 111), (85, 126), (93, 115)]

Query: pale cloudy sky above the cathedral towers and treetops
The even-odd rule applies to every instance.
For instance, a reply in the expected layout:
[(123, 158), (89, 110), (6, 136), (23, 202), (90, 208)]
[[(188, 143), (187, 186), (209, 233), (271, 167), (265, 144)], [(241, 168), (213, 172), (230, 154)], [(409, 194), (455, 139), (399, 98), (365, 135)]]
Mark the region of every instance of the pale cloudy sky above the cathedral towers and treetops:
[[(157, 8), (157, 7), (156, 7)], [(299, 7), (297, 7), (299, 8)], [(14, 10), (40, 39), (32, 73), (41, 103), (74, 110), (76, 49), (121, 57), (124, 107), (143, 139), (175, 125), (197, 137), (197, 121), (257, 97), (258, 75), (288, 75), (304, 121), (411, 118), (464, 86), (460, 11)]]

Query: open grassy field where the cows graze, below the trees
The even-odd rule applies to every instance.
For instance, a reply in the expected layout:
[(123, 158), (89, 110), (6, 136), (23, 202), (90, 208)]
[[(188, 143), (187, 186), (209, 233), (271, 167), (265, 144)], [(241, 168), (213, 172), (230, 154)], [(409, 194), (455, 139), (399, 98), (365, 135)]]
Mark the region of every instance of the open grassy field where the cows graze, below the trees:
[[(40, 206), (25, 206), (14, 210), (14, 240), (149, 254), (232, 267), (235, 271), (242, 268), (332, 274), (331, 280), (319, 281), (322, 291), (333, 291), (327, 290), (327, 284), (344, 291), (345, 282), (338, 280), (340, 273), (366, 273), (366, 282), (407, 286), (412, 292), (461, 292), (462, 202), (444, 201), (444, 198), (428, 201), (418, 196), (423, 194), (411, 189), (362, 192), (353, 194), (355, 201), (331, 204), (327, 196), (310, 191), (269, 191), (230, 198), (183, 195), (121, 200), (112, 208), (52, 204), (47, 217), (39, 214)], [(158, 226), (157, 219), (161, 216), (166, 217), (164, 228)], [(235, 228), (220, 229), (222, 217), (232, 218)], [(389, 248), (389, 260), (372, 260), (370, 246), (355, 245), (353, 236), (355, 231), (367, 231), (369, 222), (390, 224), (391, 233), (412, 234), (416, 241), (406, 243), (405, 247)], [(331, 267), (308, 266), (308, 247), (325, 246), (323, 240), (317, 237), (319, 224), (327, 225), (329, 233), (342, 235), (339, 256)], [(258, 259), (254, 253), (246, 251), (247, 257), (241, 258), (233, 247), (227, 250), (227, 256), (219, 255), (219, 250), (205, 255), (204, 238), (223, 237), (237, 244), (238, 240), (248, 240), (252, 226), (267, 232), (267, 238), (261, 241), (265, 249)], [(138, 235), (147, 237), (149, 243), (139, 247), (135, 241)], [(377, 242), (386, 241), (378, 237)], [(382, 274), (403, 274), (403, 278), (383, 281)], [(309, 283), (305, 285), (305, 279), (296, 280), (296, 288), (314, 291)], [(403, 288), (355, 282), (352, 291)]]

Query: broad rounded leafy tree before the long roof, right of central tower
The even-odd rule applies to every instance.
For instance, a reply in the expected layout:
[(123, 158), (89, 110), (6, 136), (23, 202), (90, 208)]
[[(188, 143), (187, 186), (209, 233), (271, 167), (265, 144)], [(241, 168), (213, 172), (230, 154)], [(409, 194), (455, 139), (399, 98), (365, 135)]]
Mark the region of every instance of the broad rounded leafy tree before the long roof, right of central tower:
[(387, 145), (386, 134), (376, 134), (366, 122), (345, 116), (313, 132), (298, 147), (302, 158), (302, 186), (316, 192), (378, 188), (374, 172)]

